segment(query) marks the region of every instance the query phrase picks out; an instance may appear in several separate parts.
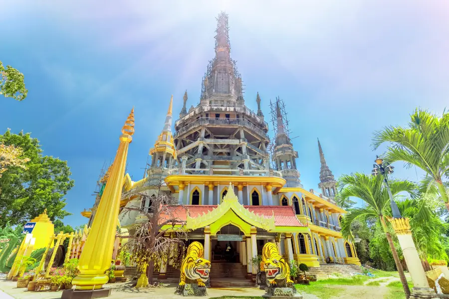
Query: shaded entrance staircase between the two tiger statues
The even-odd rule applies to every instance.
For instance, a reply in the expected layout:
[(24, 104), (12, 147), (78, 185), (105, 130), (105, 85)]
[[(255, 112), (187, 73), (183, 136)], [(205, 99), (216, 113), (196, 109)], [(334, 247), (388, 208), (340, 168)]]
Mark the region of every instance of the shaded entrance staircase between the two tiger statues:
[(212, 263), (211, 288), (253, 288), (254, 283), (247, 278), (246, 266), (240, 263)]

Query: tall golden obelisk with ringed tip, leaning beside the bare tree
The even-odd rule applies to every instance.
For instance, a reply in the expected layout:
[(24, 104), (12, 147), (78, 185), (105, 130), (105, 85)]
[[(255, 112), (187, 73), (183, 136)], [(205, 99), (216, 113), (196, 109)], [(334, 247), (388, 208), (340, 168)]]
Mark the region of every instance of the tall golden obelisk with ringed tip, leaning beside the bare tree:
[[(77, 290), (93, 291), (101, 289), (108, 282), (108, 277), (104, 272), (111, 266), (120, 198), (125, 178), (126, 157), (133, 134), (134, 108), (123, 126), (120, 145), (112, 164), (109, 179), (79, 258), (80, 274), (72, 281), (72, 284), (76, 286), (73, 295)], [(73, 298), (75, 297), (73, 296)]]

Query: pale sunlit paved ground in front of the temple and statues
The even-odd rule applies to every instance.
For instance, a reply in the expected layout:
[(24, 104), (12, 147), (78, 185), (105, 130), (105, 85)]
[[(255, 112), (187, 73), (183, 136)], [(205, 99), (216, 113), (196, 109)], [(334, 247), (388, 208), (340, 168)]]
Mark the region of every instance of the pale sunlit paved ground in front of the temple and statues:
[[(129, 287), (127, 283), (107, 285), (112, 289), (110, 299), (137, 299), (137, 298), (158, 298), (158, 299), (180, 299), (179, 295), (175, 295), (175, 285), (167, 287), (149, 288), (137, 290)], [(16, 283), (0, 280), (0, 290), (8, 294), (0, 299), (60, 299), (61, 291), (58, 292), (28, 292), (26, 288), (17, 289)], [(0, 291), (0, 292), (1, 292)], [(115, 291), (115, 292), (114, 292)], [(258, 288), (224, 288), (224, 289), (208, 289), (208, 296), (202, 298), (213, 298), (222, 296), (262, 296), (265, 291)]]

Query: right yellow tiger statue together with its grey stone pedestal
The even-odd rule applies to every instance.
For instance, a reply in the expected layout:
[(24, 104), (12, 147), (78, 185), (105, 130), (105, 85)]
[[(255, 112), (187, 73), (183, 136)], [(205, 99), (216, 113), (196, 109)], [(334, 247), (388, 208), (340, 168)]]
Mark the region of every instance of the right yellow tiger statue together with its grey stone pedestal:
[(290, 267), (279, 254), (276, 244), (268, 242), (263, 246), (260, 271), (265, 272), (267, 280), (266, 294), (263, 297), (302, 298), (296, 293), (296, 288), (290, 279)]

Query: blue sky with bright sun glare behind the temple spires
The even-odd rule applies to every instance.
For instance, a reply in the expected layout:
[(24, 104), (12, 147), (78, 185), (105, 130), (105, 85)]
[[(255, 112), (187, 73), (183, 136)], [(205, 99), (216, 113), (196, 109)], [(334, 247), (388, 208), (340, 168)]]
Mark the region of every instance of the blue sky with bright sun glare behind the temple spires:
[[(95, 2), (95, 3), (92, 3)], [(187, 89), (199, 103), (214, 57), (215, 17), (229, 14), (231, 56), (245, 103), (269, 120), (269, 100), (284, 100), (297, 165), (317, 189), (319, 137), (338, 177), (369, 172), (372, 133), (406, 125), (420, 106), (441, 114), (449, 96), (447, 1), (6, 1), (0, 60), (25, 75), (28, 98), (0, 99), (0, 132), (31, 132), (44, 154), (68, 161), (75, 187), (63, 221), (86, 223), (100, 169), (114, 157), (135, 107), (128, 155), (134, 180)], [(417, 179), (403, 169), (396, 176)]]

